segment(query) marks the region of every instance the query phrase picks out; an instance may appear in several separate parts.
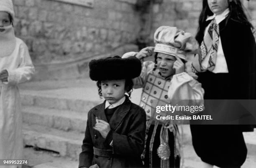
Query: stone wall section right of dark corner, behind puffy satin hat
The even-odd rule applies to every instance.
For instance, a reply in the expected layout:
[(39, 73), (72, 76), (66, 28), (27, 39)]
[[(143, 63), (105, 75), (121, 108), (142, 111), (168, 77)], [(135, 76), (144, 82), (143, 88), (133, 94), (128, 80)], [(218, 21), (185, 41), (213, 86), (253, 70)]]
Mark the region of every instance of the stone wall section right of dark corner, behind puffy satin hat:
[[(247, 8), (248, 18), (253, 26), (256, 27), (256, 1), (242, 1), (245, 8)], [(195, 35), (201, 10), (202, 0), (163, 0), (161, 4), (154, 4), (154, 23), (151, 37), (153, 37), (156, 28), (161, 25), (176, 26)]]

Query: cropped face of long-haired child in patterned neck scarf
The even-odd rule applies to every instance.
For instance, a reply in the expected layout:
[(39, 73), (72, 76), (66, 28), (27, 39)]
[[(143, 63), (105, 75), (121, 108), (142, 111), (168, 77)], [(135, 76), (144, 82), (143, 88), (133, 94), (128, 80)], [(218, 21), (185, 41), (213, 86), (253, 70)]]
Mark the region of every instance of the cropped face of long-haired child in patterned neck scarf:
[(228, 0), (208, 0), (208, 6), (212, 13), (218, 15), (228, 8)]

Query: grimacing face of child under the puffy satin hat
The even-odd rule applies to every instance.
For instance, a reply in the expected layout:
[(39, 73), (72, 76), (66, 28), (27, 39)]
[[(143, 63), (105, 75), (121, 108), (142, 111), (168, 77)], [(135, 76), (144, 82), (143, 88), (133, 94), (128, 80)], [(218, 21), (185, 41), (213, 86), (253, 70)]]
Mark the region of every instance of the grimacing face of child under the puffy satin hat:
[(173, 69), (173, 64), (175, 61), (175, 56), (165, 53), (157, 54), (157, 67), (161, 73), (161, 76), (167, 77), (175, 73), (175, 70)]

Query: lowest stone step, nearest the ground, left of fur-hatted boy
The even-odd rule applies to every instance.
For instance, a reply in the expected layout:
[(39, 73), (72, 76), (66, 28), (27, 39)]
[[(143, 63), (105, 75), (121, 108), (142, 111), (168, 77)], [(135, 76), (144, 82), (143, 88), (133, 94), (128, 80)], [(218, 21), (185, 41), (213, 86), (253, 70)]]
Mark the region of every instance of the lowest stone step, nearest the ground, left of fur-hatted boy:
[(84, 133), (63, 131), (42, 125), (23, 123), (24, 144), (51, 150), (60, 156), (77, 160)]

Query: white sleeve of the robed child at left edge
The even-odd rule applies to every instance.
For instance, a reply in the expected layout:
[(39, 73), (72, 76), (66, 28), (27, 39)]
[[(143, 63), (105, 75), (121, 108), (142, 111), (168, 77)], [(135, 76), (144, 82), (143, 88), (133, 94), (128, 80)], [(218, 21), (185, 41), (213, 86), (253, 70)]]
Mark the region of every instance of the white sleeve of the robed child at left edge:
[(19, 66), (17, 69), (8, 71), (8, 82), (6, 84), (16, 85), (31, 79), (32, 75), (35, 73), (35, 68), (32, 64), (28, 47), (25, 43), (20, 45), (19, 48)]

